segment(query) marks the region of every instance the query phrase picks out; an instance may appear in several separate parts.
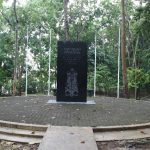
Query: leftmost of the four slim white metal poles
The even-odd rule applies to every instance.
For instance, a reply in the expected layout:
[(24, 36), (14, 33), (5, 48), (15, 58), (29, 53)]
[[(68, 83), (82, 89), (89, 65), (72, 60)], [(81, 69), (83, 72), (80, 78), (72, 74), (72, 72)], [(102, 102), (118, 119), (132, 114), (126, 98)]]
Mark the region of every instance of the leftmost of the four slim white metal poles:
[(27, 27), (27, 47), (26, 47), (26, 88), (25, 88), (25, 96), (28, 95), (28, 41), (29, 40), (29, 35), (28, 35), (28, 27)]

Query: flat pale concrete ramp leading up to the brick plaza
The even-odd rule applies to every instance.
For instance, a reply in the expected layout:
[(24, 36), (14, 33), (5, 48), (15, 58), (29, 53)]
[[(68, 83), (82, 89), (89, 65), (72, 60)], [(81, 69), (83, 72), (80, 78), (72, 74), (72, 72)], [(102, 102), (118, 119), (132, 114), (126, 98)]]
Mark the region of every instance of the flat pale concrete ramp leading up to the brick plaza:
[(90, 127), (49, 127), (38, 150), (98, 150)]

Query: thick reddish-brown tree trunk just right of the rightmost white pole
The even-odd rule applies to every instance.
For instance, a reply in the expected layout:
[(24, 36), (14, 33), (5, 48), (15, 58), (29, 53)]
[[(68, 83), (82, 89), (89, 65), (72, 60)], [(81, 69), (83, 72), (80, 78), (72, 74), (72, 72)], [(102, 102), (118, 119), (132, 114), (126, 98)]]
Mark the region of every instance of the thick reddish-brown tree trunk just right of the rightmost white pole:
[(126, 68), (126, 34), (125, 34), (125, 2), (121, 0), (121, 52), (122, 52), (122, 76), (123, 76), (123, 88), (124, 96), (129, 97), (128, 94), (128, 81), (127, 81), (127, 68)]

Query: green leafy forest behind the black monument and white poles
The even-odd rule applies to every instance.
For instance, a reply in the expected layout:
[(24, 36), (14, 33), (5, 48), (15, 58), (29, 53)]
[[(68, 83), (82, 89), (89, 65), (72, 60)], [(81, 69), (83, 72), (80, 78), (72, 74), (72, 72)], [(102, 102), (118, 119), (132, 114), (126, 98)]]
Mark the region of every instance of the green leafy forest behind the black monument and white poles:
[[(64, 1), (8, 3), (0, 0), (0, 95), (11, 95), (14, 88), (15, 95), (25, 92), (26, 66), (28, 93), (45, 93), (50, 48), (50, 87), (55, 89), (57, 41), (65, 39)], [(97, 93), (116, 95), (120, 0), (70, 0), (67, 13), (69, 39), (88, 44), (88, 90), (94, 86), (96, 36)], [(150, 93), (150, 2), (135, 5), (135, 0), (127, 0), (125, 19), (129, 91)]]

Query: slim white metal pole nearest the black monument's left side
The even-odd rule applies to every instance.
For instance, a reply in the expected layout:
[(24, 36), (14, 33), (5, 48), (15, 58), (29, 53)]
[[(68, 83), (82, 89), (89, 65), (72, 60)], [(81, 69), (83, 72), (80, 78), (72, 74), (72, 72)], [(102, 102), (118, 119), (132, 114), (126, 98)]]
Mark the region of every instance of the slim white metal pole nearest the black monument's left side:
[(50, 95), (50, 76), (51, 76), (51, 36), (52, 36), (52, 33), (51, 33), (51, 29), (50, 29), (50, 33), (49, 33), (49, 70), (48, 70), (48, 96)]

